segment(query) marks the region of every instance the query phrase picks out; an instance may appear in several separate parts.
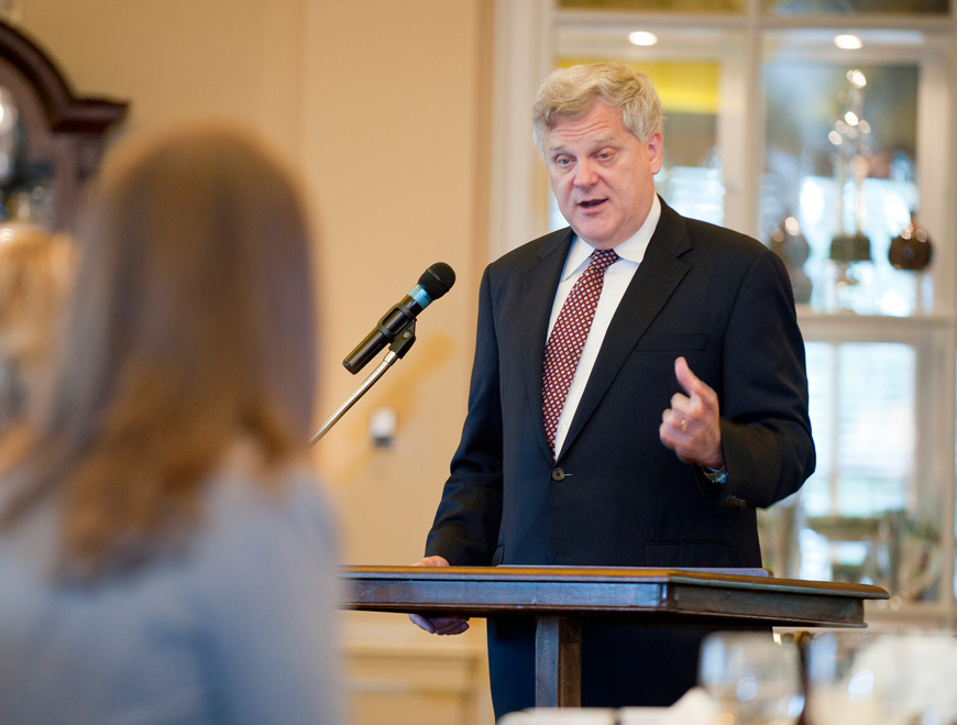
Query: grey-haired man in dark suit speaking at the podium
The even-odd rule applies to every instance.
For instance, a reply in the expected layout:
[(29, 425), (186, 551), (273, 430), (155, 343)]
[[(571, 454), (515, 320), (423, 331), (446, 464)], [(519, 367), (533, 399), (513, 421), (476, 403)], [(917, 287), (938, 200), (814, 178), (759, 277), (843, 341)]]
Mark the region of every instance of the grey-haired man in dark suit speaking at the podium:
[[(570, 228), (485, 271), (468, 417), (418, 563), (760, 567), (755, 508), (814, 470), (784, 265), (656, 196), (661, 108), (644, 75), (557, 70), (534, 119)], [(671, 704), (704, 634), (586, 624), (582, 704)], [(491, 619), (488, 646), (496, 715), (531, 706), (534, 624)]]

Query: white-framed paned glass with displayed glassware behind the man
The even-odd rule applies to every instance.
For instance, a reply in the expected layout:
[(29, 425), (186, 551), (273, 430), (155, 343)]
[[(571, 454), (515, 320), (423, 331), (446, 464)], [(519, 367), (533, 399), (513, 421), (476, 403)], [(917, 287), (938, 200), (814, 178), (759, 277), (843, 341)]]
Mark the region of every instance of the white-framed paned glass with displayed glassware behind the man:
[[(557, 65), (623, 61), (658, 87), (662, 197), (686, 216), (756, 237), (791, 273), (818, 459), (798, 494), (758, 513), (766, 565), (780, 576), (878, 584), (892, 594), (888, 609), (949, 620), (949, 0), (553, 7)], [(839, 37), (851, 35), (848, 15), (860, 29)], [(629, 45), (635, 31), (658, 43)], [(563, 226), (554, 216), (552, 223)]]

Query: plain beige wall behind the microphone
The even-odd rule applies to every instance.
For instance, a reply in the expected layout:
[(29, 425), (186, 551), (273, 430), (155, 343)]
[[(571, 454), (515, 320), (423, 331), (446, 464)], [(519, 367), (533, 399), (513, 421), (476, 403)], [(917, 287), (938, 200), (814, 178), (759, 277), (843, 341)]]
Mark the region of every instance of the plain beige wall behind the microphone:
[[(323, 395), (317, 428), (369, 372), (352, 376), (341, 360), (385, 308), (429, 264), (443, 261), (457, 271), (455, 287), (422, 315), (408, 355), (314, 449), (339, 503), (349, 563), (420, 557), (461, 428), (487, 256), (490, 6), (23, 6), (24, 32), (58, 63), (77, 94), (131, 101), (122, 133), (219, 116), (262, 129), (299, 166), (321, 230)], [(376, 406), (398, 414), (392, 448), (370, 441), (369, 413)], [(424, 722), (426, 712), (433, 723), (480, 722), (474, 688), (484, 677), (481, 624), (457, 640), (418, 633), (397, 616), (353, 614), (348, 625), (354, 680), (364, 693), (354, 707), (356, 722), (384, 722), (383, 708), (392, 713), (389, 722), (400, 722), (398, 710), (408, 722)], [(446, 658), (436, 672), (452, 678), (449, 685), (429, 688), (422, 670), (410, 669), (410, 657)], [(414, 671), (419, 674), (411, 677)], [(417, 697), (430, 690), (438, 700), (417, 714)]]

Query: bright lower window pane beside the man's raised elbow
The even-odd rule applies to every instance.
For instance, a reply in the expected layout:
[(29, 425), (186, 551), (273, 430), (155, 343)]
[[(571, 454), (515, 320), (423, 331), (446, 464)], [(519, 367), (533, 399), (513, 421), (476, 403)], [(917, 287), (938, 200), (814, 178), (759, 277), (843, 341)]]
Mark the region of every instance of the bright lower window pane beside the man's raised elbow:
[(941, 521), (915, 505), (916, 350), (809, 342), (806, 352), (817, 469), (798, 494), (761, 513), (767, 565), (934, 598)]

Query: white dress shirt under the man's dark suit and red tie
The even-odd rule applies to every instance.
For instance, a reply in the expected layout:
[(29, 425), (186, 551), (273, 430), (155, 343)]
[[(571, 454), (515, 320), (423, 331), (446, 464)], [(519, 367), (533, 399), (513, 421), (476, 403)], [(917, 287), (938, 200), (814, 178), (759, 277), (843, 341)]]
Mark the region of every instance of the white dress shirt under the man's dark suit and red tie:
[[(605, 340), (605, 333), (608, 331), (608, 326), (612, 323), (612, 318), (615, 316), (615, 310), (625, 296), (625, 290), (635, 276), (638, 265), (645, 259), (645, 250), (648, 248), (648, 242), (651, 240), (651, 234), (658, 227), (658, 220), (661, 218), (661, 202), (658, 200), (658, 195), (651, 202), (651, 210), (645, 219), (641, 228), (635, 232), (632, 237), (625, 240), (615, 246), (615, 253), (620, 257), (612, 266), (605, 271), (605, 282), (602, 286), (602, 296), (598, 298), (598, 305), (595, 308), (595, 317), (592, 320), (592, 327), (588, 330), (588, 337), (585, 339), (585, 345), (582, 349), (582, 356), (579, 360), (579, 365), (575, 367), (575, 375), (572, 378), (572, 384), (569, 387), (569, 394), (565, 397), (565, 404), (559, 417), (558, 430), (556, 431), (554, 448), (556, 452), (561, 452), (564, 444), (565, 435), (569, 431), (569, 426), (574, 418), (575, 410), (579, 407), (579, 402), (582, 399), (582, 393), (585, 391), (585, 384), (592, 374), (592, 369), (595, 366), (595, 360), (598, 356), (598, 351), (602, 349), (602, 342)], [(579, 237), (572, 241), (569, 256), (565, 260), (564, 270), (559, 281), (558, 289), (556, 290), (554, 303), (551, 308), (551, 319), (548, 323), (548, 333), (551, 337), (551, 331), (554, 329), (556, 320), (559, 311), (564, 305), (565, 298), (572, 290), (575, 282), (582, 276), (587, 268), (594, 249), (586, 242), (583, 242)]]

